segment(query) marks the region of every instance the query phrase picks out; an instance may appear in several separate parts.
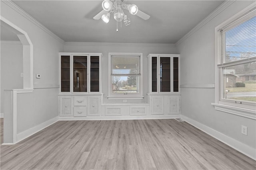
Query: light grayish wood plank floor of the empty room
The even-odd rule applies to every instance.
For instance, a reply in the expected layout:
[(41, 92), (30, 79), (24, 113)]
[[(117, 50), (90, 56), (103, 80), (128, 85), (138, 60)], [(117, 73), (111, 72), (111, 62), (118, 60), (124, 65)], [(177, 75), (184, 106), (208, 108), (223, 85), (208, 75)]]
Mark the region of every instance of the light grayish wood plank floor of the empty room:
[(1, 170), (256, 169), (256, 161), (174, 119), (58, 121), (12, 146)]

